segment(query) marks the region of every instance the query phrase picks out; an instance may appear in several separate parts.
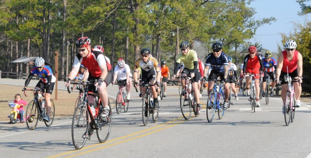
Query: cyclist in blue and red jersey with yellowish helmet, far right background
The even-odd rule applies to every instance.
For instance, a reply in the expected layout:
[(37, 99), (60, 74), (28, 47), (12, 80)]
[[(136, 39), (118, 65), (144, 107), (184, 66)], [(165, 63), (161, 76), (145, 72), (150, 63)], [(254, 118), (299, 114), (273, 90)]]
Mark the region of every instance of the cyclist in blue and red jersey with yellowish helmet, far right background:
[[(273, 89), (274, 87), (276, 86), (276, 82), (274, 82), (275, 80), (275, 71), (276, 71), (276, 67), (277, 67), (277, 62), (276, 62), (276, 59), (271, 57), (272, 56), (272, 53), (270, 51), (266, 52), (265, 55), (264, 55), (264, 59), (262, 60), (263, 61), (263, 71), (264, 71), (264, 74), (269, 74), (270, 78), (272, 79), (272, 83), (271, 83), (271, 96), (273, 96)], [(262, 97), (265, 96), (265, 93), (266, 93), (266, 82), (267, 81), (267, 76), (263, 76), (262, 78)]]

